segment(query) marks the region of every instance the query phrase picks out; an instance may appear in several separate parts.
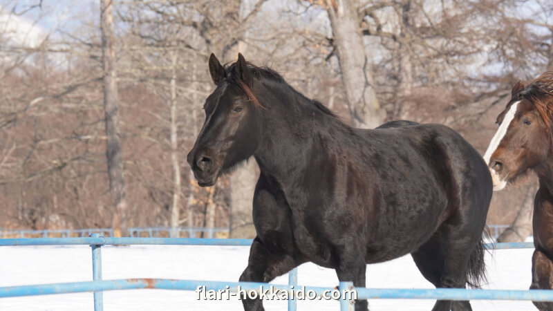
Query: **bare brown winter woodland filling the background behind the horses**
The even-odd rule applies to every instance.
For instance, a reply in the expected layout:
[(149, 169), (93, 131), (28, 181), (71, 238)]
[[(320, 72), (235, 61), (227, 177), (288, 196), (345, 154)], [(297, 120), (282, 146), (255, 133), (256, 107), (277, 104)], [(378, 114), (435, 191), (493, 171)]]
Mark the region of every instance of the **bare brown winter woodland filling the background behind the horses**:
[[(102, 82), (115, 75), (102, 70), (95, 21), (101, 2), (72, 1), (64, 8), (70, 23), (24, 44), (32, 32), (17, 35), (3, 23), (21, 18), (23, 25), (44, 25), (39, 19), (50, 19), (56, 5), (37, 2), (0, 8), (0, 200), (6, 202), (0, 225), (109, 227), (117, 203), (106, 174), (112, 145)], [(85, 9), (98, 14), (79, 11)], [(378, 119), (386, 110), (388, 119), (447, 124), (480, 151), (510, 86), (553, 64), (547, 0), (140, 0), (119, 1), (115, 9), (111, 39), (129, 227), (230, 225), (233, 236), (248, 226), (252, 232), (255, 169), (223, 176), (214, 191), (196, 185), (184, 160), (214, 87), (205, 66), (209, 53), (232, 61), (241, 51), (254, 64), (271, 66), (345, 122), (368, 127), (361, 124), (366, 115)], [(373, 95), (381, 108), (366, 113)], [(494, 194), (489, 222), (527, 224), (521, 222), (528, 216), (525, 191)]]

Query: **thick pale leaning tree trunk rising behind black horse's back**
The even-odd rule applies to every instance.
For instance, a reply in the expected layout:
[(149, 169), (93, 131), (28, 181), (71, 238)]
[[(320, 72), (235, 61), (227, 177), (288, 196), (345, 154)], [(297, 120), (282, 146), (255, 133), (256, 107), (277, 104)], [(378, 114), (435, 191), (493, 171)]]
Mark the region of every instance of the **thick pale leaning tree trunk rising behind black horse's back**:
[(383, 119), (354, 1), (326, 0), (353, 126), (371, 129)]

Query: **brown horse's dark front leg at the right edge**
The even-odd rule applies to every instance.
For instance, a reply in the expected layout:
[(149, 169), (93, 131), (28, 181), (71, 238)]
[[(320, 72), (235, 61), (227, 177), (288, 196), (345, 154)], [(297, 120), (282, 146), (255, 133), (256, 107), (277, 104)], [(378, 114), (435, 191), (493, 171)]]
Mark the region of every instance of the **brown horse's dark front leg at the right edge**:
[[(551, 290), (553, 288), (553, 263), (540, 249), (532, 255), (532, 285), (530, 290)], [(553, 311), (553, 303), (533, 301), (541, 311)]]

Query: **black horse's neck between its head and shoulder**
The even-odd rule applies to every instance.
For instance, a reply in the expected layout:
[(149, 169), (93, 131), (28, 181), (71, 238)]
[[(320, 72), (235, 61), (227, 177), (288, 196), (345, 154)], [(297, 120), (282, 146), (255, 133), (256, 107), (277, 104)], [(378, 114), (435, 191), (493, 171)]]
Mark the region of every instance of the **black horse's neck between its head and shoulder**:
[[(324, 144), (332, 132), (350, 131), (319, 102), (309, 100), (293, 88), (264, 85), (258, 98), (275, 100), (262, 102), (265, 132), (254, 153), (262, 173), (275, 178), (281, 185), (292, 182), (292, 172), (308, 167), (309, 156)], [(319, 168), (320, 169), (320, 168)]]

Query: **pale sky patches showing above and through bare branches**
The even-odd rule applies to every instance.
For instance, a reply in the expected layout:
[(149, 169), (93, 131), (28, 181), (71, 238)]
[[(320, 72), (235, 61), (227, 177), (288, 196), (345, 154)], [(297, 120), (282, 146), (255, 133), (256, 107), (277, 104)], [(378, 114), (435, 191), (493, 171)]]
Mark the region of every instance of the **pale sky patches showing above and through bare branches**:
[[(256, 0), (244, 1), (251, 3)], [(41, 3), (41, 6), (37, 8), (36, 6), (39, 3)], [(521, 1), (519, 2), (520, 7), (510, 12), (510, 15), (552, 24), (553, 15), (545, 13), (542, 7), (543, 3), (547, 3), (547, 0)], [(551, 4), (548, 5), (551, 6)], [(56, 38), (61, 35), (61, 32), (75, 33), (75, 30), (82, 27), (83, 23), (97, 24), (99, 22), (99, 16), (97, 16), (98, 6), (98, 0), (0, 0), (0, 33), (7, 33), (6, 36), (12, 44), (35, 47), (48, 35), (50, 35), (50, 38)], [(293, 0), (290, 2), (269, 1), (264, 4), (263, 11), (281, 12), (287, 6), (294, 10), (293, 8), (297, 7), (297, 2)], [(15, 14), (11, 14), (11, 12)], [(312, 12), (312, 10), (309, 12)], [(319, 26), (319, 29), (324, 28), (330, 32), (328, 20), (321, 17), (314, 17), (309, 14), (302, 15), (293, 27), (300, 28), (301, 23), (309, 23), (310, 26)], [(323, 19), (325, 20), (323, 21)], [(278, 19), (272, 22), (278, 23)], [(541, 26), (530, 27), (536, 33), (549, 31)], [(331, 33), (328, 33), (328, 36), (330, 35)], [(375, 62), (378, 62), (377, 54), (379, 52), (375, 51), (374, 53)], [(474, 68), (475, 75), (493, 75), (505, 70), (504, 64), (491, 63), (486, 55), (475, 59), (474, 66), (471, 66), (471, 68)]]

